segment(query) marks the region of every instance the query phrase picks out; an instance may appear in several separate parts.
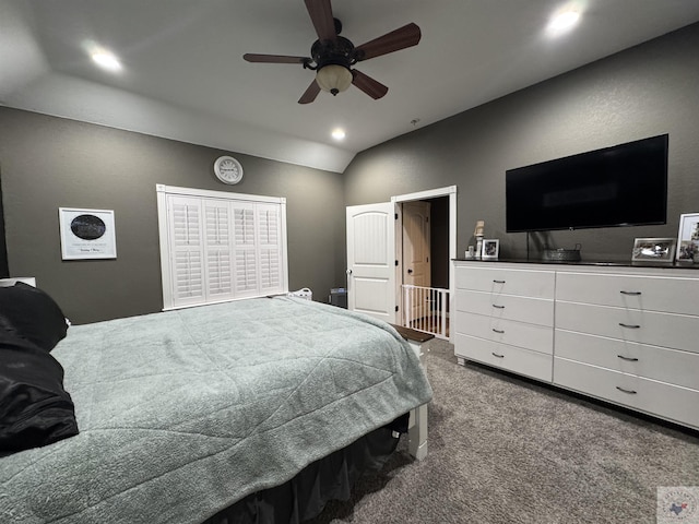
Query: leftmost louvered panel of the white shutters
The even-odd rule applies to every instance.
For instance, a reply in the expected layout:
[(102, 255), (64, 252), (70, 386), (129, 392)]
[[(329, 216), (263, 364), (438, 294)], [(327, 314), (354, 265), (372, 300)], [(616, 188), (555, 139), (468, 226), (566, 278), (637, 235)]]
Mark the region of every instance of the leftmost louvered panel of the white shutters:
[(205, 300), (201, 199), (168, 196), (171, 294), (175, 307)]

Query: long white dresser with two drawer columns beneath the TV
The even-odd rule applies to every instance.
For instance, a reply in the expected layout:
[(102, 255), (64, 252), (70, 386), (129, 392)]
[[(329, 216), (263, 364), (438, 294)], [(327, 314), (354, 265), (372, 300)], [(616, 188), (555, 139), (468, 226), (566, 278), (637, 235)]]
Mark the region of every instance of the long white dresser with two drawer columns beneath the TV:
[[(519, 336), (485, 336), (494, 320), (482, 297), (474, 295), (473, 282), (486, 274), (506, 282), (502, 294), (508, 282), (526, 279), (534, 286), (532, 293), (519, 285), (507, 290), (508, 300), (510, 295), (517, 298), (517, 318), (508, 320), (529, 326)], [(544, 274), (550, 278), (550, 298), (535, 284), (546, 279)], [(699, 271), (469, 261), (455, 262), (455, 275), (454, 353), (460, 361), (498, 366), (699, 428)], [(498, 295), (495, 287), (489, 294)], [(554, 308), (552, 341), (534, 342), (532, 326), (548, 325), (543, 313), (537, 317), (546, 300)], [(550, 355), (552, 371), (533, 372), (531, 358), (522, 359), (523, 365), (510, 358), (506, 365), (507, 355), (488, 357), (483, 341), (493, 346), (491, 353), (502, 354), (506, 347), (512, 355)]]

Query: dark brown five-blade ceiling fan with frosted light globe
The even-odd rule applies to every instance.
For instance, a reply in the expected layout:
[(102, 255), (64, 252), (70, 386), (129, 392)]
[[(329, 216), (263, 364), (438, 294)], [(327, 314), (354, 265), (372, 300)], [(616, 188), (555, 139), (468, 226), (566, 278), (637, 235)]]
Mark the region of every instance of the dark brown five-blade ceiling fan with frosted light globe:
[(352, 67), (363, 60), (416, 46), (422, 36), (419, 27), (411, 23), (355, 47), (347, 38), (340, 36), (342, 23), (333, 17), (330, 0), (304, 1), (318, 34), (318, 39), (310, 48), (310, 57), (248, 52), (242, 58), (248, 62), (300, 63), (304, 69), (316, 71), (316, 79), (298, 99), (299, 104), (313, 102), (321, 90), (336, 95), (350, 85), (355, 85), (374, 99), (386, 95), (389, 91), (386, 85)]

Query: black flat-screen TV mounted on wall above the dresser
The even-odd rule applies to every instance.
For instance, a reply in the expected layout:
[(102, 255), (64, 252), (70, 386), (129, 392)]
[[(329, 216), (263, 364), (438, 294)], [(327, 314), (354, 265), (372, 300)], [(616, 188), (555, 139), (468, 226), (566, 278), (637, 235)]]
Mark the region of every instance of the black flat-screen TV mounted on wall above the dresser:
[(665, 224), (663, 134), (508, 169), (507, 233)]

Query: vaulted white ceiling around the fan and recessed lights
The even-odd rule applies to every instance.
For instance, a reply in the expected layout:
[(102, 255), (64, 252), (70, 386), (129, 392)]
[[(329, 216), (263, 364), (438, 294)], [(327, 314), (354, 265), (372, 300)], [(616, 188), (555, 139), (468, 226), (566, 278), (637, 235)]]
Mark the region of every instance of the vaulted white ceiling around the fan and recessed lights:
[[(548, 37), (571, 3), (579, 26)], [(351, 86), (299, 105), (311, 71), (242, 60), (309, 55), (301, 0), (0, 0), (0, 104), (343, 171), (363, 150), (697, 22), (699, 1), (334, 0), (333, 14), (355, 45), (420, 27), (418, 46), (357, 64), (383, 98)], [(87, 41), (122, 71), (97, 69)]]

